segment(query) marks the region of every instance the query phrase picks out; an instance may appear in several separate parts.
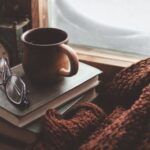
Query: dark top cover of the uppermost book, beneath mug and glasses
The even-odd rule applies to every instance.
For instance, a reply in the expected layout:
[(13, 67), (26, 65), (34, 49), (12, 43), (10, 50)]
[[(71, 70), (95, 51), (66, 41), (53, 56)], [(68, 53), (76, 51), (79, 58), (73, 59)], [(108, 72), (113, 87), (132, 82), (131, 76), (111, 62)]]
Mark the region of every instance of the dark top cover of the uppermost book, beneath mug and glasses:
[[(20, 77), (24, 76), (24, 70), (21, 64), (11, 69), (14, 74), (17, 74)], [(100, 71), (99, 69), (93, 66), (80, 62), (79, 71), (76, 75), (69, 77), (69, 78), (64, 77), (64, 79), (60, 80), (60, 82), (57, 82), (56, 85), (52, 85), (52, 87), (49, 87), (49, 88), (47, 87), (45, 89), (47, 92), (45, 90), (42, 91), (42, 89), (37, 88), (34, 85), (32, 87), (31, 81), (29, 81), (27, 78), (26, 79), (23, 78), (25, 79), (28, 89), (31, 91), (30, 92), (31, 94), (30, 93), (28, 94), (28, 97), (31, 98), (30, 107), (28, 109), (21, 111), (17, 109), (16, 107), (14, 107), (12, 104), (8, 103), (8, 101), (5, 101), (5, 103), (3, 103), (3, 101), (1, 100), (2, 101), (1, 108), (5, 109), (6, 111), (8, 111), (8, 113), (11, 113), (12, 115), (15, 115), (16, 117), (21, 118), (27, 115), (28, 113), (38, 109), (39, 107), (45, 105), (49, 101), (53, 101), (57, 99), (59, 96), (65, 94), (66, 92), (70, 92), (70, 90), (73, 90), (74, 88), (80, 86), (84, 82), (99, 75), (101, 72), (102, 71)], [(2, 97), (3, 96), (4, 95), (2, 95)], [(6, 96), (4, 96), (3, 98), (5, 100)]]

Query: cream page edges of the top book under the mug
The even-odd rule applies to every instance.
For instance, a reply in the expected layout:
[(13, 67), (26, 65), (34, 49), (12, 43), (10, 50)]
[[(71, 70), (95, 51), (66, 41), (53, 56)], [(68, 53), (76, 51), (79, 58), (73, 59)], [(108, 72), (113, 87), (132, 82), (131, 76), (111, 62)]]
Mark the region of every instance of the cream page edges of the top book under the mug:
[[(93, 85), (91, 85), (91, 83)], [(9, 113), (7, 110), (1, 108), (1, 117), (3, 119), (5, 119), (5, 120), (9, 121), (10, 123), (12, 123), (15, 126), (23, 127), (23, 126), (27, 125), (28, 123), (30, 123), (31, 121), (34, 121), (34, 120), (40, 118), (42, 115), (44, 115), (44, 113), (46, 112), (45, 109), (47, 109), (47, 107), (51, 106), (51, 108), (56, 108), (56, 107), (60, 106), (61, 104), (69, 101), (70, 99), (72, 99), (72, 98), (74, 98), (74, 97), (84, 93), (85, 91), (89, 90), (90, 88), (93, 88), (93, 87), (97, 86), (98, 84), (99, 84), (99, 81), (98, 81), (98, 75), (97, 75), (97, 76), (91, 78), (90, 80), (84, 82), (83, 84), (79, 85), (78, 87), (70, 90), (69, 92), (66, 92), (65, 94), (61, 95), (57, 99), (51, 101), (49, 105), (44, 105), (43, 107), (41, 107), (40, 109), (44, 109), (44, 110), (40, 111), (40, 113), (38, 115), (37, 115), (38, 111), (35, 110), (33, 112), (30, 112), (26, 116), (19, 118), (19, 117), (15, 116), (15, 115)], [(85, 86), (88, 86), (88, 88), (83, 89), (83, 87), (85, 87)], [(80, 89), (81, 87), (82, 87), (82, 90)], [(62, 102), (61, 101), (62, 98), (66, 99), (66, 100)], [(57, 101), (57, 104), (55, 103), (56, 101)], [(61, 101), (61, 103), (58, 104), (58, 101)], [(31, 117), (33, 116), (31, 114), (33, 114), (33, 113), (35, 114), (35, 116), (34, 116), (34, 118), (31, 119)], [(30, 119), (28, 119), (29, 117), (30, 117)]]

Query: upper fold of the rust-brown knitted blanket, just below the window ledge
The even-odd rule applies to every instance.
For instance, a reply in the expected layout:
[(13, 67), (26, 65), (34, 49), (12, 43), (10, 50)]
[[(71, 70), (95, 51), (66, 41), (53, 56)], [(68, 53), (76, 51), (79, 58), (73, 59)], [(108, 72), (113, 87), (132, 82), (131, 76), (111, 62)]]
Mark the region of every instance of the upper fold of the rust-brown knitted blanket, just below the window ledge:
[(150, 83), (150, 58), (131, 65), (117, 73), (113, 80), (103, 85), (101, 101), (107, 101), (115, 108), (126, 108), (139, 97), (142, 89)]

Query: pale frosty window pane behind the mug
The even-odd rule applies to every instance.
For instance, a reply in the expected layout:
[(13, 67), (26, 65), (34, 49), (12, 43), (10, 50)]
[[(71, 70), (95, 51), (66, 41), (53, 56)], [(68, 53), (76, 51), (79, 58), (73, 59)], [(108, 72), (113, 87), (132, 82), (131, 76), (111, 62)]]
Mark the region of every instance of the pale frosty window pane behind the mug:
[(49, 22), (70, 43), (150, 55), (149, 7), (149, 0), (49, 0)]

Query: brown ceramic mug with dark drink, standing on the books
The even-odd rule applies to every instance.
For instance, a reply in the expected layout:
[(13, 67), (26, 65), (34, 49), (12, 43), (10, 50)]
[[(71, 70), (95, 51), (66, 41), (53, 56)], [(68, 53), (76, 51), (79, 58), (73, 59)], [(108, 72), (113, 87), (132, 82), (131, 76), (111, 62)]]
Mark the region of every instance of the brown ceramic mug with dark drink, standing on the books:
[(24, 32), (23, 68), (37, 83), (54, 82), (78, 71), (76, 52), (67, 45), (68, 35), (56, 28), (35, 28)]

